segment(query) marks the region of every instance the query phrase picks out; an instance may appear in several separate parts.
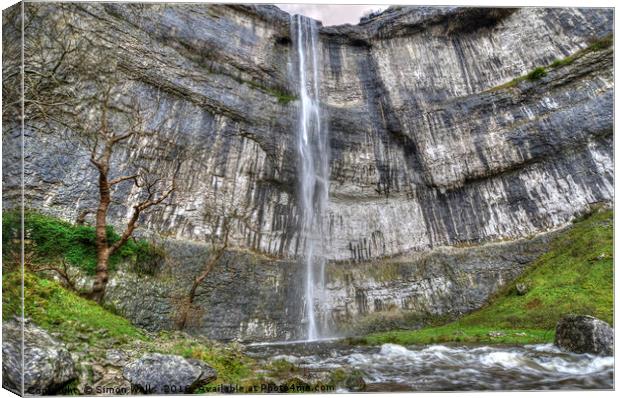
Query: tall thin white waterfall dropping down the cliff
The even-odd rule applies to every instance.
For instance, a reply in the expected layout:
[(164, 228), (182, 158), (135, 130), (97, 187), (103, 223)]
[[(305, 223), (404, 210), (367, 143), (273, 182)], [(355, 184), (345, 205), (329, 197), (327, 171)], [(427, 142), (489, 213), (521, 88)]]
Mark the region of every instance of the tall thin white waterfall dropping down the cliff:
[(316, 340), (326, 333), (321, 320), (325, 284), (325, 240), (323, 215), (328, 202), (329, 166), (327, 129), (321, 122), (318, 68), (318, 30), (313, 19), (291, 17), (291, 36), (297, 52), (299, 72), (299, 125), (297, 127), (298, 203), (300, 207), (303, 261), (306, 278), (304, 311), (306, 338)]

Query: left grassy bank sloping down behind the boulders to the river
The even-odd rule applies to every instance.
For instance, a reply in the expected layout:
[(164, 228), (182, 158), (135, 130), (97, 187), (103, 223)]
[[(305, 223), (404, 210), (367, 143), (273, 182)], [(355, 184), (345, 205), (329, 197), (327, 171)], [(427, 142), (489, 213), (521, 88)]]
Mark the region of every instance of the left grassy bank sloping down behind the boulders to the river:
[[(195, 340), (187, 335), (161, 332), (145, 333), (127, 319), (91, 300), (66, 290), (55, 281), (26, 272), (24, 277), (25, 315), (36, 325), (57, 334), (65, 343), (88, 344), (89, 348), (113, 345), (139, 347), (139, 354), (160, 352), (201, 359), (218, 372), (212, 384), (235, 384), (251, 377), (255, 362), (236, 345)], [(2, 316), (10, 319), (21, 314), (21, 273), (11, 272), (2, 278)], [(136, 345), (136, 343), (139, 344)]]

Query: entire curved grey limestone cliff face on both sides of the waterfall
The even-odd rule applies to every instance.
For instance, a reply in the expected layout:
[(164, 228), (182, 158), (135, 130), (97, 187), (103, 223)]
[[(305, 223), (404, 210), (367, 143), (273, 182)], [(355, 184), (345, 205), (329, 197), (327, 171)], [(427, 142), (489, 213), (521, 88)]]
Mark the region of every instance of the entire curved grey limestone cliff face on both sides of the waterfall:
[[(271, 6), (78, 3), (64, 5), (63, 13), (58, 7), (26, 4), (40, 16), (29, 19), (26, 36), (36, 38), (63, 15), (114, 53), (131, 78), (127, 89), (140, 93), (144, 106), (160, 98), (174, 126), (158, 137), (162, 145), (129, 143), (113, 168), (140, 157), (154, 169), (170, 169), (162, 155), (168, 142), (191, 155), (172, 205), (145, 214), (141, 230), (204, 242), (219, 231), (221, 220), (208, 211), (218, 198), (247, 212), (234, 224), (231, 245), (269, 256), (249, 268), (243, 268), (247, 256), (232, 256), (216, 268), (202, 287), (205, 311), (197, 318), (204, 326), (196, 330), (242, 339), (286, 337), (285, 328), (297, 333), (300, 308), (288, 304), (299, 304), (291, 284), (300, 281), (295, 258), (303, 247), (289, 15)], [(21, 35), (11, 15), (5, 14), (7, 43)], [(453, 301), (458, 305), (448, 312), (471, 310), (525, 263), (509, 254), (480, 257), (486, 249), (463, 254), (468, 260), (461, 263), (452, 257), (460, 251), (439, 249), (443, 254), (429, 258), (441, 260), (427, 266), (420, 253), (527, 238), (613, 202), (613, 48), (549, 69), (539, 80), (498, 88), (612, 31), (611, 9), (459, 7), (393, 7), (357, 26), (320, 29), (322, 114), (330, 135), (325, 255), (337, 270), (327, 284), (328, 318), (346, 323), (390, 306), (436, 306), (433, 313), (444, 313)], [(26, 63), (36, 57), (27, 52)], [(19, 53), (5, 57), (7, 70), (11, 59)], [(3, 136), (7, 206), (22, 194), (17, 120), (7, 120)], [(25, 205), (75, 220), (95, 207), (88, 153), (35, 127), (26, 120)], [(129, 216), (136, 198), (128, 190), (116, 187), (129, 199), (112, 207), (114, 223)], [(516, 255), (529, 250), (522, 249)], [(385, 258), (405, 260), (385, 265)], [(173, 292), (187, 290), (183, 284), (197, 266), (175, 265)], [(384, 268), (395, 270), (393, 278), (383, 279)], [(383, 276), (365, 278), (375, 271)], [(144, 295), (111, 288), (110, 300), (123, 301), (123, 311), (140, 324), (171, 327), (176, 293), (163, 278), (147, 282)], [(138, 289), (121, 275), (115, 283)], [(145, 306), (144, 297), (154, 301)], [(258, 300), (267, 304), (243, 307)], [(230, 316), (217, 321), (222, 314)]]

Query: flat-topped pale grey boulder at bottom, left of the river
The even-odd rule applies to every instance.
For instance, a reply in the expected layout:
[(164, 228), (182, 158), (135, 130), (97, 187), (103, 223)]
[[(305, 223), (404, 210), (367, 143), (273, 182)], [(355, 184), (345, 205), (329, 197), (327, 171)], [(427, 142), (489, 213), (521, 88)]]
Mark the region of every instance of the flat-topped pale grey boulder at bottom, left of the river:
[(155, 353), (127, 364), (123, 376), (147, 394), (181, 394), (215, 380), (217, 373), (197, 359)]

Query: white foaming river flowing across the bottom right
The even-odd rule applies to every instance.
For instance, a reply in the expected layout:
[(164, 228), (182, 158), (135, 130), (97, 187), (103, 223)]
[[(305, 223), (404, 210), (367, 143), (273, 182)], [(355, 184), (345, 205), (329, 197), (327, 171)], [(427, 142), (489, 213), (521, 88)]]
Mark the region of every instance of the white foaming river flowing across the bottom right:
[(612, 389), (613, 357), (573, 354), (551, 344), (525, 346), (338, 342), (256, 345), (249, 354), (303, 369), (361, 371), (366, 391)]

